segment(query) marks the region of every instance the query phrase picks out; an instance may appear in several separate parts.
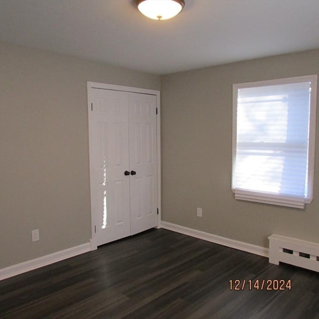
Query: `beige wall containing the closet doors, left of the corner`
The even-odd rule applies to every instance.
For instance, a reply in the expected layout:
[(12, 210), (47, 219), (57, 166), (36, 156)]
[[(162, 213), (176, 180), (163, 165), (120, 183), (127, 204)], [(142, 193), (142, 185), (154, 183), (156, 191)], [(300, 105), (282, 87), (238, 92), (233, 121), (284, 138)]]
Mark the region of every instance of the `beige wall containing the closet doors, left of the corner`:
[[(0, 268), (91, 238), (86, 81), (160, 77), (1, 43)], [(40, 241), (31, 242), (31, 230)]]

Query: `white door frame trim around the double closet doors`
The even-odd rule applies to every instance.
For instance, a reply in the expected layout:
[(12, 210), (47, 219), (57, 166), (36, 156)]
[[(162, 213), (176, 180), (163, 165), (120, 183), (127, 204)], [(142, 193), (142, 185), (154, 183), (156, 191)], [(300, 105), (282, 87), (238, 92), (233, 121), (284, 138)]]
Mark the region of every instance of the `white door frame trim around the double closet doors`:
[[(114, 91), (123, 91), (123, 92), (133, 92), (133, 93), (143, 93), (143, 94), (151, 94), (156, 96), (156, 108), (157, 108), (157, 118), (156, 118), (156, 127), (157, 127), (157, 201), (158, 201), (158, 226), (157, 228), (161, 227), (160, 224), (160, 216), (161, 216), (161, 206), (160, 206), (160, 91), (157, 90), (149, 90), (149, 89), (142, 89), (142, 88), (134, 88), (130, 86), (121, 86), (121, 85), (114, 85), (114, 84), (105, 84), (105, 83), (98, 83), (98, 82), (87, 82), (87, 90), (88, 90), (88, 123), (89, 123), (89, 145), (93, 143), (93, 128), (92, 128), (92, 89), (104, 89), (104, 90), (114, 90)], [(89, 149), (90, 154), (90, 149)], [(90, 165), (90, 194), (92, 189), (92, 171)], [(91, 197), (91, 207), (92, 207), (92, 196)], [(91, 210), (91, 250), (97, 249), (97, 241), (95, 237), (95, 224), (92, 218), (92, 210)]]

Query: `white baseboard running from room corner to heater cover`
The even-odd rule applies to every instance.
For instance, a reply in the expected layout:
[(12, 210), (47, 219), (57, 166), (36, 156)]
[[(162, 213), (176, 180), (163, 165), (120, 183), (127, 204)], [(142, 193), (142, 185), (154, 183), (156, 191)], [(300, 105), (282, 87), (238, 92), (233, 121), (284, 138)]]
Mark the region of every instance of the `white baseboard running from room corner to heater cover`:
[(200, 231), (197, 229), (172, 224), (172, 223), (169, 223), (167, 221), (161, 221), (161, 227), (168, 229), (168, 230), (175, 231), (177, 233), (184, 234), (184, 235), (207, 240), (207, 241), (210, 241), (210, 242), (215, 243), (215, 244), (243, 250), (243, 251), (246, 251), (248, 253), (255, 254), (255, 255), (259, 255), (259, 256), (263, 256), (263, 257), (269, 256), (269, 249), (265, 248), (265, 247), (248, 244), (248, 243), (245, 243), (242, 241), (238, 241), (238, 240), (234, 240), (234, 239), (230, 239), (230, 238), (226, 238), (226, 237), (217, 236), (217, 235), (206, 233), (206, 232), (203, 232), (203, 231)]

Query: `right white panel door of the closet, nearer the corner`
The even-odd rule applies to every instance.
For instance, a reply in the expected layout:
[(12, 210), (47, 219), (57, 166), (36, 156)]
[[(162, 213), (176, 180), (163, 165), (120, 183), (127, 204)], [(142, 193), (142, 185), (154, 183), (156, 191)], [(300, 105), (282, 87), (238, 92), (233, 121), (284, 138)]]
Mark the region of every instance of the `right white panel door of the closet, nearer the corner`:
[(134, 235), (158, 225), (156, 96), (129, 93), (129, 136)]

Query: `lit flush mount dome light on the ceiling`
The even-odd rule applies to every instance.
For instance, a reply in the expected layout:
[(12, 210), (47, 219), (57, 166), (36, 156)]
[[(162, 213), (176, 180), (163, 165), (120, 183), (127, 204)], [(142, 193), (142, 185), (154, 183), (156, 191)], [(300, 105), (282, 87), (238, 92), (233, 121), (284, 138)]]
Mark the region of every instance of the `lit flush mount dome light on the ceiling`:
[(165, 20), (178, 14), (185, 5), (184, 0), (137, 0), (139, 10), (147, 17)]

